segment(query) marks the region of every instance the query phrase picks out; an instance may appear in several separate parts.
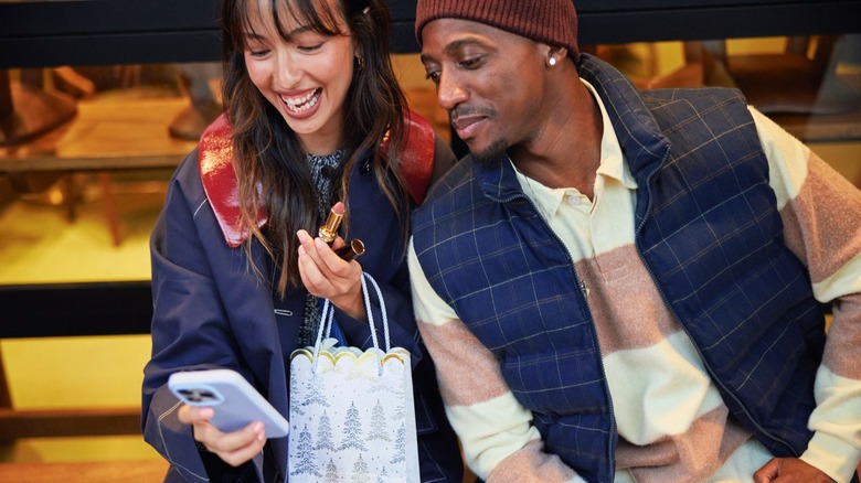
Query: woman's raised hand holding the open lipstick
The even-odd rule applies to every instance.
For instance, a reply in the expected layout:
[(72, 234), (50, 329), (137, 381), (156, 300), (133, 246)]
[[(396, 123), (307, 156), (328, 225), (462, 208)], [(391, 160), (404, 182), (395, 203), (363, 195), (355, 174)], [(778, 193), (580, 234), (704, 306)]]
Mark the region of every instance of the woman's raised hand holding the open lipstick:
[(344, 245), (338, 237), (330, 247), (320, 238), (311, 238), (308, 232), (296, 233), (299, 247), (299, 276), (308, 291), (329, 301), (353, 319), (365, 320), (362, 297), (362, 266), (358, 261), (344, 261), (333, 248)]

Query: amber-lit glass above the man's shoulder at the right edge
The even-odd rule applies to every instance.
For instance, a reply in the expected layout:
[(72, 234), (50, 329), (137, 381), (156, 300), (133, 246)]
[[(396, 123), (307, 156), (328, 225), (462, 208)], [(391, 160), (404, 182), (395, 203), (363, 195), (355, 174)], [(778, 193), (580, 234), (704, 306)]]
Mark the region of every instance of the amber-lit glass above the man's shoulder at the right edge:
[(861, 186), (861, 35), (584, 46), (639, 88), (736, 87)]

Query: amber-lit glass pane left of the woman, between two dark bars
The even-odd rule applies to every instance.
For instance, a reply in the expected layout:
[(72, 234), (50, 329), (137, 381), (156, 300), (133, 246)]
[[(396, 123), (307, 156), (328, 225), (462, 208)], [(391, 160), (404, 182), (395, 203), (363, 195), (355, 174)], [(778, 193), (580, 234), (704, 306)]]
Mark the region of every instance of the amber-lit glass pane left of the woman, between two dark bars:
[(0, 73), (0, 285), (148, 280), (167, 180), (221, 111), (219, 64)]

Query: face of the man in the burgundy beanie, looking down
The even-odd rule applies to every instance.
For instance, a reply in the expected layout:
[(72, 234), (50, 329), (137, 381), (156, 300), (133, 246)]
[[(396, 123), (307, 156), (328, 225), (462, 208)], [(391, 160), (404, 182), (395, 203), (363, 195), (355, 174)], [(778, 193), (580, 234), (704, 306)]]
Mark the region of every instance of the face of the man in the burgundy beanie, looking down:
[(422, 64), (439, 106), (476, 160), (535, 139), (545, 120), (541, 44), (459, 19), (429, 22), (422, 41)]

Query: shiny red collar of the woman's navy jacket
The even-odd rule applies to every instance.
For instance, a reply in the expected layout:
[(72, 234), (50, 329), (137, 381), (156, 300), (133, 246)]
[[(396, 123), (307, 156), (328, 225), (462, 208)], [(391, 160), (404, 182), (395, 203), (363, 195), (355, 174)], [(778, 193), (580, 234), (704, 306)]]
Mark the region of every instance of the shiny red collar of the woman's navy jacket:
[[(401, 154), (401, 171), (406, 180), (407, 191), (421, 204), (434, 168), (435, 135), (431, 124), (413, 111), (404, 117), (406, 136)], [(389, 138), (380, 146), (383, 155), (389, 150)], [(249, 230), (240, 223), (240, 186), (233, 163), (233, 143), (231, 126), (226, 115), (222, 114), (201, 135), (198, 149), (200, 179), (203, 191), (210, 201), (224, 239), (232, 248), (248, 239)], [(266, 213), (257, 214), (257, 226), (266, 224)]]

